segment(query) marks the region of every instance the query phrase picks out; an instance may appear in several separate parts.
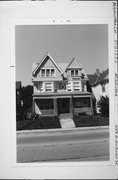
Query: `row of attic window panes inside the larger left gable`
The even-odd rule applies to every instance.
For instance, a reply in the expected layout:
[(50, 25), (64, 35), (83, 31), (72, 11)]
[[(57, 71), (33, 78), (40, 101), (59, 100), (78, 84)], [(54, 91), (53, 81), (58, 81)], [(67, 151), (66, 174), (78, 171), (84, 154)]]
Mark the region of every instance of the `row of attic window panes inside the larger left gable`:
[(52, 69), (52, 68), (42, 69), (41, 77), (55, 77), (55, 69)]

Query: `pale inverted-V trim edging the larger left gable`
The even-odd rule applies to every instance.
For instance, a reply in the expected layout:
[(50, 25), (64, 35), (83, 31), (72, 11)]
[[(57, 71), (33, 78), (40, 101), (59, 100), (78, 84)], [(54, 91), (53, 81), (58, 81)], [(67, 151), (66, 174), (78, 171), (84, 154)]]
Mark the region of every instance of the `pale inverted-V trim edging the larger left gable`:
[(63, 71), (60, 69), (60, 67), (56, 64), (56, 62), (53, 60), (53, 58), (51, 57), (51, 55), (49, 53), (47, 53), (44, 58), (42, 59), (42, 61), (40, 63), (37, 64), (36, 68), (33, 70), (32, 74), (35, 75), (36, 72), (38, 71), (38, 69), (41, 67), (41, 65), (46, 61), (47, 57), (50, 58), (50, 60), (52, 61), (52, 63), (56, 66), (56, 68), (60, 71), (61, 74), (63, 74)]

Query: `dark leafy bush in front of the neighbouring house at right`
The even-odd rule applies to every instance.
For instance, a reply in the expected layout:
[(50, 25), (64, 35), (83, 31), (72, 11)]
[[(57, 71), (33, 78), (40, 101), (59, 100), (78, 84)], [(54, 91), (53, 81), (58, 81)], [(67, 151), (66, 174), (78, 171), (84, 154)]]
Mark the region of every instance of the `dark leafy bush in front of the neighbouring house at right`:
[(109, 98), (102, 96), (98, 102), (98, 107), (100, 108), (101, 116), (109, 116)]

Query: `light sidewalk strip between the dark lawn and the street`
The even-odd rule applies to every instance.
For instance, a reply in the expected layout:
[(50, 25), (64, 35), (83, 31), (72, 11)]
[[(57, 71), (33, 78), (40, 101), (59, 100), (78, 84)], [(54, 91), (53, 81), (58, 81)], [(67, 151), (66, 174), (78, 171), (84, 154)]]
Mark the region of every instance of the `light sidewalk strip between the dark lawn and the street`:
[(67, 134), (67, 133), (78, 133), (87, 130), (100, 130), (100, 129), (108, 129), (109, 126), (94, 126), (94, 127), (79, 127), (79, 128), (70, 128), (70, 129), (34, 129), (34, 130), (22, 130), (17, 131), (17, 135), (33, 135), (33, 134), (41, 134), (41, 135), (54, 135), (54, 134)]

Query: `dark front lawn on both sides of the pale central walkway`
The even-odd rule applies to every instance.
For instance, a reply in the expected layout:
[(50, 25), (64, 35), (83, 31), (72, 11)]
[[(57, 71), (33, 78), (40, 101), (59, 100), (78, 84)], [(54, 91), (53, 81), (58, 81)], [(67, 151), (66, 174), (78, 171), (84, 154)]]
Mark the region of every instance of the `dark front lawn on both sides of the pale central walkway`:
[[(91, 127), (91, 126), (108, 126), (109, 117), (100, 116), (74, 116), (73, 118), (76, 127)], [(31, 129), (53, 129), (61, 128), (58, 116), (42, 116), (35, 120), (20, 120), (17, 121), (17, 130)]]

